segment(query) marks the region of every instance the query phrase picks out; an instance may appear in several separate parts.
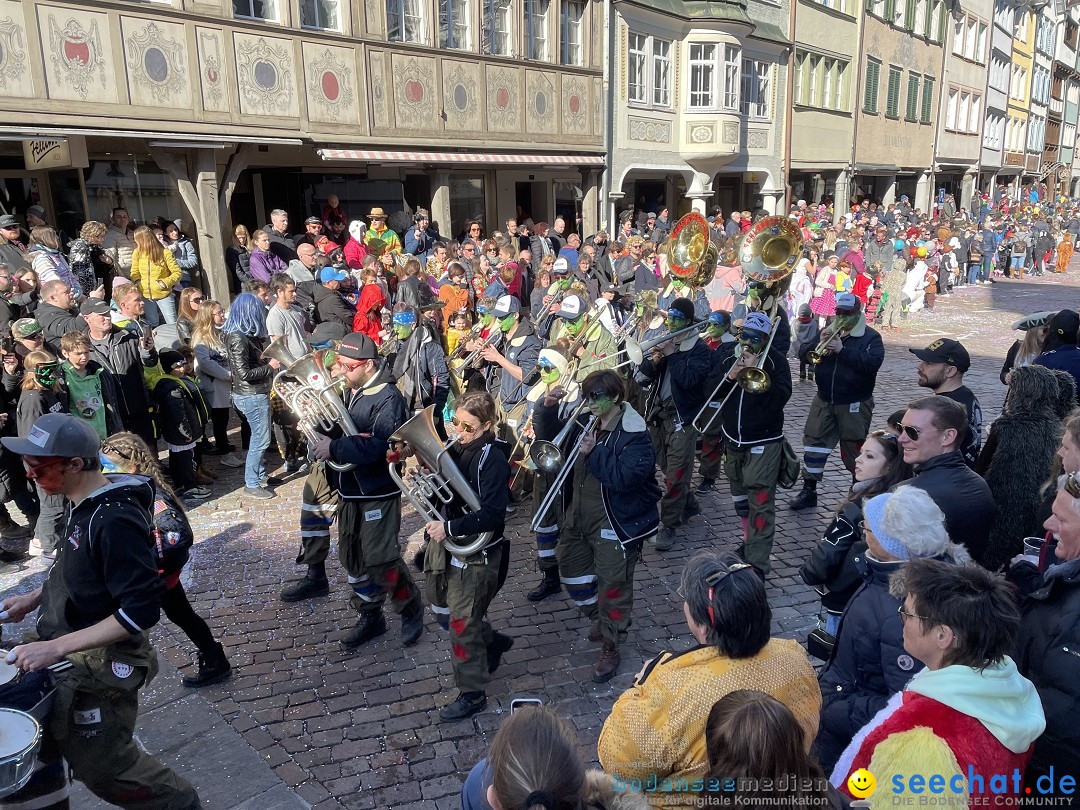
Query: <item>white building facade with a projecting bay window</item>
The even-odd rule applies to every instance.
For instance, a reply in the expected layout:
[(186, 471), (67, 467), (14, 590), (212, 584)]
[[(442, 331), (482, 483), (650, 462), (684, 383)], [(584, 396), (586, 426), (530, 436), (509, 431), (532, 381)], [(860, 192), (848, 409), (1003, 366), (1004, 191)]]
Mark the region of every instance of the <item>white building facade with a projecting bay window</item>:
[(784, 200), (787, 9), (766, 0), (618, 0), (610, 188), (623, 211)]

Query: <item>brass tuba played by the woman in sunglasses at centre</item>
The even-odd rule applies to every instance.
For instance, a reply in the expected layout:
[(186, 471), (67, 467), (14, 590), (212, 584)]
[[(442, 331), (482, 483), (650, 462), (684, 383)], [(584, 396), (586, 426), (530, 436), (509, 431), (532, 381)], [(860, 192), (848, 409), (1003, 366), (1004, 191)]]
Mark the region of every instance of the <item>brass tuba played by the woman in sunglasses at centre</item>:
[[(434, 414), (435, 406), (429, 405), (390, 436), (391, 445), (407, 444), (420, 462), (411, 469), (399, 472), (397, 462), (392, 461), (390, 477), (394, 480), (413, 508), (429, 521), (445, 519), (438, 508), (441, 504), (450, 503), (455, 496), (465, 502), (469, 512), (478, 512), (480, 496), (473, 491), (469, 481), (450, 459), (449, 450), (454, 442), (448, 442), (444, 446), (443, 440), (435, 432)], [(462, 544), (451, 542), (447, 538), (443, 541), (443, 545), (455, 557), (464, 561), (491, 542), (494, 534), (485, 531), (482, 535), (473, 535)]]

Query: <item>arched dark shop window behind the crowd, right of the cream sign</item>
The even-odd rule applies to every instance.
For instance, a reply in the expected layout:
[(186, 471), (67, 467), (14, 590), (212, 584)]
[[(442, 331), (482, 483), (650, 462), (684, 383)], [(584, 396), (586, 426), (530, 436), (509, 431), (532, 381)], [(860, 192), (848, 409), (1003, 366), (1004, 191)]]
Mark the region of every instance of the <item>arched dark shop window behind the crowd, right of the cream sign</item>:
[(91, 160), (85, 176), (90, 219), (108, 222), (118, 207), (127, 208), (132, 222), (188, 217), (173, 178), (149, 159), (125, 154)]

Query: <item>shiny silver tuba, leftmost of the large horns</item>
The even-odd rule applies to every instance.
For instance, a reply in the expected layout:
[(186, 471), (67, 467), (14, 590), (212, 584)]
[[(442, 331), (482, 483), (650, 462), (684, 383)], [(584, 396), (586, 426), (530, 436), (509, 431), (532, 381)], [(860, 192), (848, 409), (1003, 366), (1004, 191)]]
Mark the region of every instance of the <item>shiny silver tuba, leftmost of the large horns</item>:
[[(262, 356), (282, 360), (288, 351), (281, 347), (268, 354), (282, 341), (275, 340), (264, 352)], [(340, 428), (347, 436), (357, 433), (356, 426), (349, 416), (349, 409), (337, 393), (337, 384), (326, 369), (324, 359), (330, 349), (321, 349), (298, 357), (282, 368), (273, 378), (271, 388), (281, 397), (285, 406), (296, 414), (297, 430), (309, 443), (315, 443), (326, 433)], [(348, 472), (355, 464), (326, 462), (332, 470)]]

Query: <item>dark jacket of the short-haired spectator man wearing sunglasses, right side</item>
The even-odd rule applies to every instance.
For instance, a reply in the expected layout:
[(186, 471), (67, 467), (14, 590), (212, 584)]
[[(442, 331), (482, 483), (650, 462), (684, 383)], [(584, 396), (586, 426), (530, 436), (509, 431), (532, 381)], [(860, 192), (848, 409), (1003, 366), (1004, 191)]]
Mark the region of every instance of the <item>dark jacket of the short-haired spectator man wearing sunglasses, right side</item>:
[(990, 529), (997, 505), (990, 488), (968, 467), (960, 450), (934, 456), (915, 465), (915, 477), (906, 484), (929, 495), (945, 515), (949, 540), (968, 550), (985, 566)]

